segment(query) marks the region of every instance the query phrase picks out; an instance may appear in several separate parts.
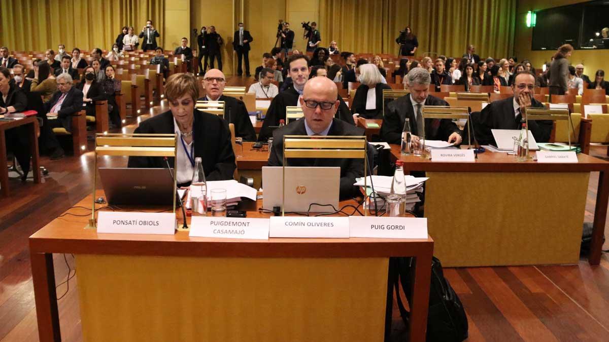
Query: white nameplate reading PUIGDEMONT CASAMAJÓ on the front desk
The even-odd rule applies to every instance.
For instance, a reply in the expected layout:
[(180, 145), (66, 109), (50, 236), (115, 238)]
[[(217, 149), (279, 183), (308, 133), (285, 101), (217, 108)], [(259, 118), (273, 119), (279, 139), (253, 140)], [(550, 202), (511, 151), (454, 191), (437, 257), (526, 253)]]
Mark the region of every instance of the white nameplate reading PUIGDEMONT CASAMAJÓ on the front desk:
[(269, 239), (267, 218), (192, 217), (189, 236), (224, 239)]

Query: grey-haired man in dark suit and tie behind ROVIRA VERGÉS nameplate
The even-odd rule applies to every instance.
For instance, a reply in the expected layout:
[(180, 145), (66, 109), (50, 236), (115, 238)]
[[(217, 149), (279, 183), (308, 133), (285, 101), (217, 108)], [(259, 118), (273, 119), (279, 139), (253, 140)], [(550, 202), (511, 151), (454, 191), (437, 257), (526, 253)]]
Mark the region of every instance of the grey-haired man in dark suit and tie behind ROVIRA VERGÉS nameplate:
[[(448, 106), (445, 100), (429, 95), (431, 77), (427, 70), (414, 68), (405, 77), (410, 94), (389, 102), (382, 120), (381, 138), (389, 144), (401, 143), (406, 118), (410, 120), (410, 132), (414, 136), (423, 136), (424, 106)], [(448, 141), (455, 145), (463, 140), (459, 127), (451, 119), (425, 119), (424, 127), (426, 139)]]

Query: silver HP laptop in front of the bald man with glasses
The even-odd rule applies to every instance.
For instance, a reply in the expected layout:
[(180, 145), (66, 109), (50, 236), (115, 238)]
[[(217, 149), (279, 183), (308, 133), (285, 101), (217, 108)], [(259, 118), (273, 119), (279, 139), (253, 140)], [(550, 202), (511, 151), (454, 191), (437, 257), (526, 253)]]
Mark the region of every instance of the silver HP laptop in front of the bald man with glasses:
[[(262, 208), (281, 207), (283, 171), (281, 166), (262, 167)], [(286, 167), (286, 212), (334, 212), (339, 209), (340, 167)]]

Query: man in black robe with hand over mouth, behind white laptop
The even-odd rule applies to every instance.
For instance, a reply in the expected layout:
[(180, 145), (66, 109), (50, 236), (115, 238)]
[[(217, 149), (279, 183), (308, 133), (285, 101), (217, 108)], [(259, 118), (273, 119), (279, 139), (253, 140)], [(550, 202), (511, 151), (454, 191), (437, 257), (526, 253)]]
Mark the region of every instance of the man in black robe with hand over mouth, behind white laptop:
[[(471, 124), (476, 132), (476, 139), (481, 145), (495, 143), (492, 129), (519, 130), (523, 117), (521, 108), (544, 108), (541, 102), (533, 98), (535, 90), (535, 75), (529, 71), (521, 71), (516, 74), (512, 85), (514, 96), (508, 99), (491, 102), (481, 112), (471, 115)], [(552, 133), (551, 120), (530, 120), (529, 131), (535, 137), (536, 142), (547, 142)]]

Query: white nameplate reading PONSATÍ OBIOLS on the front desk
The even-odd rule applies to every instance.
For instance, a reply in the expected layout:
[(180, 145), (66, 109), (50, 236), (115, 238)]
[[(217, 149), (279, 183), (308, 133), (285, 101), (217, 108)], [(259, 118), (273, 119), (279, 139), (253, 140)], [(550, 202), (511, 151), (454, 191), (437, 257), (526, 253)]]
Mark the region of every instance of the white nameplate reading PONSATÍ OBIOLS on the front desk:
[(98, 233), (174, 234), (177, 222), (171, 212), (108, 212), (97, 214)]

